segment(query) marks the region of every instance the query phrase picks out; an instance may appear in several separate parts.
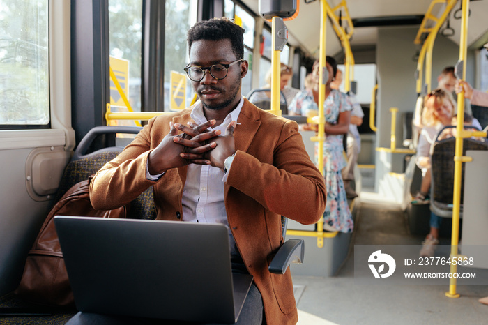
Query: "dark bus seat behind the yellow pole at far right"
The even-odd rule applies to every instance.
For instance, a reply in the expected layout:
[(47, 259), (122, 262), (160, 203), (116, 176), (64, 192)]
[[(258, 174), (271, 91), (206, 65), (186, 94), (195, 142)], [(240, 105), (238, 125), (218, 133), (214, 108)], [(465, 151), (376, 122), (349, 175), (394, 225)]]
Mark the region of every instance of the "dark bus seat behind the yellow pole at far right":
[[(443, 130), (447, 128), (455, 128), (455, 126), (446, 126)], [(441, 133), (442, 130), (439, 132), (439, 135)], [(452, 218), (455, 142), (455, 137), (441, 140), (436, 139), (436, 142), (434, 142), (431, 149), (432, 183), (430, 209), (432, 212), (436, 213), (436, 215), (444, 218)], [(488, 142), (473, 138), (463, 139), (463, 155), (466, 154), (466, 150), (488, 150)], [(462, 216), (462, 204), (464, 199), (464, 164), (462, 167), (461, 186), (460, 217)]]

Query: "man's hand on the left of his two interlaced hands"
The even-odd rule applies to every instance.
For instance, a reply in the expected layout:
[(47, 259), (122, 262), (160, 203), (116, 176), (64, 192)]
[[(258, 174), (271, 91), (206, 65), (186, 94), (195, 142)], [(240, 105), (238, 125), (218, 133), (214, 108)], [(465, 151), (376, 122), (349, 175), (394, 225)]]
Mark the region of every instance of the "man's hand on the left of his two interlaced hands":
[[(167, 169), (182, 167), (190, 163), (210, 165), (205, 153), (217, 146), (215, 142), (206, 143), (208, 139), (220, 135), (220, 130), (206, 132), (215, 124), (215, 120), (207, 121), (189, 128), (179, 123), (169, 122), (169, 133), (160, 144), (151, 151), (148, 158), (148, 169), (151, 175), (161, 174)], [(178, 130), (183, 131), (177, 135)]]

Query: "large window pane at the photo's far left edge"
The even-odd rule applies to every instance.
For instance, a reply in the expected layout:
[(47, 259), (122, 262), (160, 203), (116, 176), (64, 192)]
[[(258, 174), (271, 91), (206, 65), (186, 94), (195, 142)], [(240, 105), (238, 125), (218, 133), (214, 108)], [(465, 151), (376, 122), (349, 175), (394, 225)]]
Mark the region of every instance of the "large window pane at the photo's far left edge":
[(0, 1), (0, 125), (49, 123), (49, 1)]

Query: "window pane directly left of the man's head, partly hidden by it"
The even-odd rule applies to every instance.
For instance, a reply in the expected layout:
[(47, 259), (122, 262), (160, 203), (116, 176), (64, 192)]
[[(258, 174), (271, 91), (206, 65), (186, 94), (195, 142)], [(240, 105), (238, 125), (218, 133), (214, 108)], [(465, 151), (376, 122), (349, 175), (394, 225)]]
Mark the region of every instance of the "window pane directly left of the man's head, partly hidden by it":
[(196, 8), (197, 0), (172, 0), (165, 4), (165, 111), (170, 110), (171, 104), (171, 71), (183, 76), (183, 88), (186, 89), (183, 106), (190, 105), (194, 97), (191, 83), (183, 68), (188, 63), (186, 33), (197, 21)]

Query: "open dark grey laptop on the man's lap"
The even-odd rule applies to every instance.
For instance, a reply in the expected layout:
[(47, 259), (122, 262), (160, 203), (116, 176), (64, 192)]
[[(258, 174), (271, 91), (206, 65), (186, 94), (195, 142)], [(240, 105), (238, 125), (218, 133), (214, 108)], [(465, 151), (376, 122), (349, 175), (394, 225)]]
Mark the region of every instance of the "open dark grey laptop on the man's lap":
[(82, 312), (236, 322), (252, 276), (232, 273), (224, 225), (56, 216)]

